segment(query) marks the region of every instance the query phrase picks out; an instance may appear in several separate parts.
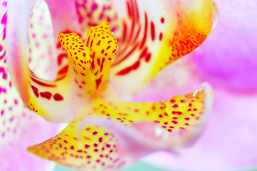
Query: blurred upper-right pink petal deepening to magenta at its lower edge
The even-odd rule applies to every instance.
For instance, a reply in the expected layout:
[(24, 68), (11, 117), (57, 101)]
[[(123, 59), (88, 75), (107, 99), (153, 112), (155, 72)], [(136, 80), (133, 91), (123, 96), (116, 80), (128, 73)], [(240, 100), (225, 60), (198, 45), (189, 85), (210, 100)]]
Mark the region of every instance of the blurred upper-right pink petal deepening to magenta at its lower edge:
[(257, 90), (257, 1), (214, 0), (219, 23), (196, 50), (199, 71), (237, 90)]

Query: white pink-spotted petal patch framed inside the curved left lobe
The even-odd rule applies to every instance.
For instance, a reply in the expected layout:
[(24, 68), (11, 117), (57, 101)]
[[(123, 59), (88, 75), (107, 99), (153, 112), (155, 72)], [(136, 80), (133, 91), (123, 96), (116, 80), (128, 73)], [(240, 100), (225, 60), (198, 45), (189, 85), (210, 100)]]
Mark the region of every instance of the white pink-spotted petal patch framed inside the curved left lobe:
[[(56, 47), (53, 26), (45, 1), (36, 1), (28, 27), (28, 66), (33, 73), (46, 80), (54, 80), (57, 73)], [(51, 72), (51, 74), (50, 74)]]

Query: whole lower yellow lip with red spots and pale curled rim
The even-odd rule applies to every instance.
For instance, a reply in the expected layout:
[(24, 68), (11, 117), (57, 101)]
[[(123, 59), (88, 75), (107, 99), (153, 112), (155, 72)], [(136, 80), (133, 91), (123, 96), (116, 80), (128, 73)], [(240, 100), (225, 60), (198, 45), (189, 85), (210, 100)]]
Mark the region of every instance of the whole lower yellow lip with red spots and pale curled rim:
[[(84, 111), (61, 133), (28, 150), (78, 169), (118, 169), (154, 150), (177, 152), (192, 145), (204, 126), (211, 99), (209, 86), (157, 103), (95, 97), (92, 112)], [(91, 114), (97, 115), (83, 119)]]

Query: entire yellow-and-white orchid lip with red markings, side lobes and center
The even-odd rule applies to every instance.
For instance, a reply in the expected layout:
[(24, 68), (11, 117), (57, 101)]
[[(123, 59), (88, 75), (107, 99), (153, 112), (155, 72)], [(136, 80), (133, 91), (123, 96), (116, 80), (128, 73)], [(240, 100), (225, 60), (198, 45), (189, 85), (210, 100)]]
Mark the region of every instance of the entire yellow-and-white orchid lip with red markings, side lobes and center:
[[(68, 167), (107, 170), (196, 141), (212, 102), (208, 84), (166, 100), (130, 98), (203, 43), (214, 21), (211, 0), (46, 3), (9, 1), (5, 16), (6, 61), (23, 103), (49, 122), (70, 123), (30, 152)], [(48, 9), (56, 37), (50, 27), (35, 28)], [(35, 56), (58, 56), (53, 81), (29, 68)]]

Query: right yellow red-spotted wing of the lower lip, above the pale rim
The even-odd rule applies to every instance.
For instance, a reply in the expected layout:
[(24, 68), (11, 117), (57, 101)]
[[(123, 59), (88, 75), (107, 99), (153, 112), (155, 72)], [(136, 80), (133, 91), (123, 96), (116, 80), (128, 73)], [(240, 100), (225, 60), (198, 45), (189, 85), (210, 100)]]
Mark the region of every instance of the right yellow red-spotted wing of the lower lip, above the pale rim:
[[(115, 120), (121, 125), (138, 122), (155, 123), (172, 133), (191, 129), (197, 125), (204, 110), (211, 105), (212, 90), (203, 84), (187, 95), (176, 95), (169, 100), (153, 103), (132, 103), (113, 100), (110, 97), (110, 95), (105, 95), (105, 98), (95, 97), (93, 113), (100, 113), (108, 120)], [(208, 101), (208, 104), (205, 104), (205, 101)]]

